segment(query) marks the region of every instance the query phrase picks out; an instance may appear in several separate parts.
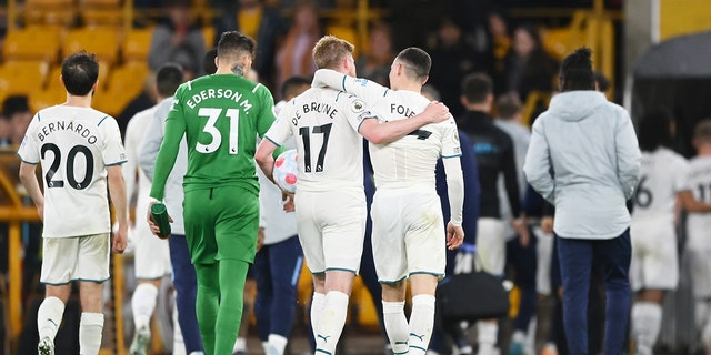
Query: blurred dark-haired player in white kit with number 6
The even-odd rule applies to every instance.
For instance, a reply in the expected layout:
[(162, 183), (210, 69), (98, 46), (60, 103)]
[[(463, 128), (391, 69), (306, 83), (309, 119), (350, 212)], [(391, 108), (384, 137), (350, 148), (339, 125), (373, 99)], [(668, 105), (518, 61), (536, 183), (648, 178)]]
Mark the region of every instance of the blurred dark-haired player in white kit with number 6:
[(652, 354), (662, 326), (664, 293), (679, 283), (678, 203), (688, 212), (711, 212), (711, 205), (694, 200), (687, 160), (667, 148), (672, 130), (672, 119), (660, 110), (650, 110), (639, 121), (642, 165), (632, 197), (630, 281), (637, 292), (632, 337), (640, 355)]

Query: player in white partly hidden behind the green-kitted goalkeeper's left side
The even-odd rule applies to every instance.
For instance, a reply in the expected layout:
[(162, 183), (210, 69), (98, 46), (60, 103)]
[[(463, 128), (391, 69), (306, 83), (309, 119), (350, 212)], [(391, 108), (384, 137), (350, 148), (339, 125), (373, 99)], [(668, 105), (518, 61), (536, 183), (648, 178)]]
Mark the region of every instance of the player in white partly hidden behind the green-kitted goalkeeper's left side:
[[(156, 73), (156, 95), (158, 102), (172, 97), (176, 89), (183, 82), (182, 68), (174, 63), (162, 65)], [(139, 169), (141, 144), (148, 132), (158, 104), (137, 113), (126, 129), (126, 156), (123, 164), (123, 180), (126, 181), (129, 201), (136, 195), (136, 211), (148, 209), (148, 194), (151, 181)], [(170, 251), (168, 241), (156, 237), (142, 219), (133, 224), (134, 266), (138, 286), (131, 297), (133, 312), (133, 341), (129, 354), (146, 354), (150, 341), (150, 321), (156, 311), (156, 301), (161, 280), (171, 274)], [(178, 324), (176, 324), (178, 326)]]

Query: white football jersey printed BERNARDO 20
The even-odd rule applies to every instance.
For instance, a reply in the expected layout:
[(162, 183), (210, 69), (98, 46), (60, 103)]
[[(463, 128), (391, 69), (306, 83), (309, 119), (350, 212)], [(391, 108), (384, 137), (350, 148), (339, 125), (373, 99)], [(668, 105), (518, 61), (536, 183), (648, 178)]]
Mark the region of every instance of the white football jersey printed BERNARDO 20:
[(91, 108), (57, 105), (38, 112), (18, 155), (42, 165), (44, 237), (108, 233), (107, 166), (126, 162), (119, 125)]

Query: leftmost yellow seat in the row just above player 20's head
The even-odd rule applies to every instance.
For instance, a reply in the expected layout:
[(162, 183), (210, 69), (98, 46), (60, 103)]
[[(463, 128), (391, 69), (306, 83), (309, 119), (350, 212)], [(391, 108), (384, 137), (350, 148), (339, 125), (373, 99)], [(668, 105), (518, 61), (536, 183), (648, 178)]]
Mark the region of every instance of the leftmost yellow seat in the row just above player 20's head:
[(59, 54), (59, 32), (29, 27), (8, 32), (2, 47), (4, 60), (56, 61)]

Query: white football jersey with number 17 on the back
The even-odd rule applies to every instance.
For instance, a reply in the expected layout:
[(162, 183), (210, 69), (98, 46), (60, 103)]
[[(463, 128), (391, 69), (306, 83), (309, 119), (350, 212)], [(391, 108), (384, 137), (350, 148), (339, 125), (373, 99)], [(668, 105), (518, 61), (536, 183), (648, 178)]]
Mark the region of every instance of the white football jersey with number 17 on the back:
[(299, 191), (363, 189), (363, 144), (358, 133), (374, 118), (363, 100), (333, 89), (311, 88), (289, 101), (264, 135), (282, 145), (293, 136)]

